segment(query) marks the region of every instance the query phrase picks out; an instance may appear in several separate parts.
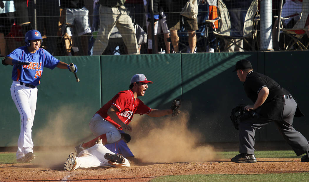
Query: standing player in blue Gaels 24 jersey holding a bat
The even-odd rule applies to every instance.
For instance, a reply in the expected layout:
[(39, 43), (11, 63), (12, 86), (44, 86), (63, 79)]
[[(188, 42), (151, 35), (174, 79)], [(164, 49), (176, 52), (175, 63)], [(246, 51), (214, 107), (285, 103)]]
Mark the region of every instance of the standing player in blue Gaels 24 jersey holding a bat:
[[(17, 162), (31, 162), (35, 159), (31, 128), (36, 110), (37, 86), (40, 84), (43, 68), (57, 67), (71, 71), (68, 64), (40, 48), (42, 36), (39, 31), (28, 31), (25, 34), (25, 43), (26, 46), (15, 49), (2, 60), (4, 65), (13, 65), (11, 96), (21, 118)], [(74, 72), (77, 72), (76, 65), (74, 67)]]

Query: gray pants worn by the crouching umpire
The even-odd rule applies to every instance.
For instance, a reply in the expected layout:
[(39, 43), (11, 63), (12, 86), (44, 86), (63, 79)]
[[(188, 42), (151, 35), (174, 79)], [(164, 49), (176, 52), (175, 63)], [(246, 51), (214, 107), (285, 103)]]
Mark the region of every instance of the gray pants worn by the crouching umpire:
[(275, 122), (286, 142), (292, 147), (297, 156), (308, 154), (309, 141), (293, 128), (293, 118), (296, 111), (296, 101), (285, 99), (283, 118), (277, 120), (245, 120), (239, 123), (239, 152), (254, 154), (255, 131), (270, 122)]

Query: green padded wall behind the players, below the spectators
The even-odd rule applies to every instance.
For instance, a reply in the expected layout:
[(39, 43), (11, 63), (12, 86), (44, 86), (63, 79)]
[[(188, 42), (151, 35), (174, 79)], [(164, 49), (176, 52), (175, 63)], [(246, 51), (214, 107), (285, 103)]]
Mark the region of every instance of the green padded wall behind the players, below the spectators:
[[(232, 70), (238, 60), (248, 59), (255, 71), (273, 78), (293, 94), (306, 115), (294, 118), (294, 127), (309, 139), (307, 57), (307, 51), (57, 57), (77, 65), (80, 82), (68, 70), (44, 69), (32, 138), (35, 146), (75, 145), (91, 139), (91, 117), (117, 92), (129, 89), (134, 74), (143, 73), (154, 82), (140, 98), (145, 104), (165, 109), (174, 98), (180, 98), (181, 110), (189, 114), (188, 129), (203, 136), (199, 142), (237, 142), (238, 131), (229, 118), (231, 109), (252, 102)], [(10, 93), (11, 71), (10, 65), (0, 66), (0, 147), (17, 146), (20, 131), (19, 113)], [(256, 133), (256, 141), (283, 138), (271, 123)]]

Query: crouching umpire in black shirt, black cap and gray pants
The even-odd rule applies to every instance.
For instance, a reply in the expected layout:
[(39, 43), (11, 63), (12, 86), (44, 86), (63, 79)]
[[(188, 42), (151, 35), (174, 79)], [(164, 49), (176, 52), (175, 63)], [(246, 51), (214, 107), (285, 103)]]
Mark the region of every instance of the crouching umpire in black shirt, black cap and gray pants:
[(286, 142), (297, 156), (306, 154), (302, 162), (309, 162), (309, 141), (293, 128), (293, 118), (304, 116), (293, 96), (273, 79), (254, 72), (248, 60), (239, 60), (235, 70), (247, 96), (253, 105), (246, 105), (246, 110), (254, 110), (259, 118), (243, 119), (239, 123), (239, 155), (231, 159), (236, 163), (256, 163), (254, 155), (255, 131), (262, 126), (275, 122)]

